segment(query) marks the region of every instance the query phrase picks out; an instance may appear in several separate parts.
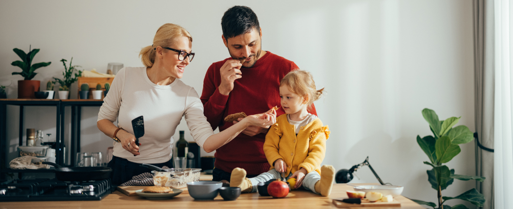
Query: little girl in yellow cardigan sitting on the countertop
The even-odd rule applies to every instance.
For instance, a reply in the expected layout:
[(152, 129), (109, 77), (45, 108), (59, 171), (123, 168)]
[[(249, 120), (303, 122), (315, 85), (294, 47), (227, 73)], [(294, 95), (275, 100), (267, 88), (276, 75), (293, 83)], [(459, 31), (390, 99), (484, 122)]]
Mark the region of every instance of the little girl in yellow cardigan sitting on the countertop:
[(310, 113), (308, 108), (324, 92), (315, 90), (315, 82), (307, 71), (295, 70), (280, 81), (281, 105), (286, 114), (276, 118), (264, 143), (264, 152), (271, 170), (254, 178), (246, 178), (246, 171), (233, 169), (230, 186), (241, 187), (242, 192), (257, 192), (257, 184), (280, 176), (296, 178), (291, 189), (303, 186), (315, 194), (331, 193), (335, 169), (321, 162), (326, 154), (328, 126)]

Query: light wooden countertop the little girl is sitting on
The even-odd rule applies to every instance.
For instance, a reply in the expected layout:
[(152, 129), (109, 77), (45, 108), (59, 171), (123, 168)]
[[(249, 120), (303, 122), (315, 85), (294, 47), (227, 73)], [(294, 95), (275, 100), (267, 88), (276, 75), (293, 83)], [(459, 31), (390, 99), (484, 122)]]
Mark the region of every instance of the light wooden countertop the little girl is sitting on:
[[(224, 201), (221, 196), (212, 200), (194, 201), (189, 194), (180, 194), (167, 200), (148, 200), (143, 197), (129, 197), (119, 191), (101, 201), (45, 201), (45, 202), (2, 202), (0, 208), (336, 208), (331, 198), (347, 198), (346, 190), (353, 190), (347, 184), (334, 184), (329, 197), (322, 197), (309, 191), (291, 191), (286, 198), (262, 197), (258, 193), (242, 194), (235, 201)], [(395, 198), (401, 208), (425, 209), (403, 197)], [(363, 207), (358, 207), (363, 208)], [(370, 207), (384, 208), (384, 207)], [(386, 207), (396, 208), (396, 207)]]

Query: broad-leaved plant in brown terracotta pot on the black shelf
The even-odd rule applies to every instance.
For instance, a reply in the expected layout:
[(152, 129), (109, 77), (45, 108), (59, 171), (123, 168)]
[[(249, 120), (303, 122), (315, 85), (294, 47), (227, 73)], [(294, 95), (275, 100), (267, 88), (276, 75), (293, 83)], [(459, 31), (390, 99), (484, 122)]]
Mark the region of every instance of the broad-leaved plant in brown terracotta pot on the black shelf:
[(32, 80), (37, 73), (34, 71), (41, 67), (49, 66), (52, 62), (39, 62), (32, 65), (32, 60), (35, 54), (39, 52), (39, 49), (30, 50), (29, 53), (25, 53), (21, 49), (14, 48), (13, 51), (22, 60), (16, 60), (11, 63), (12, 66), (17, 66), (22, 69), (22, 72), (13, 72), (12, 75), (21, 75), (25, 79), (18, 80), (18, 99), (34, 99), (34, 92), (39, 91), (41, 81)]

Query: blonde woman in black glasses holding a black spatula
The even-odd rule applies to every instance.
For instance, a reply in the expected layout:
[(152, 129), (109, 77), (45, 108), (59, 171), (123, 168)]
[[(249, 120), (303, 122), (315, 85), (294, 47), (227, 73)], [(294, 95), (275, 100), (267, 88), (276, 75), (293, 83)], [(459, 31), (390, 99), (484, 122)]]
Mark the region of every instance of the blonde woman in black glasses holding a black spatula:
[[(248, 126), (269, 127), (276, 122), (273, 110), (250, 115), (223, 132), (214, 134), (203, 115), (198, 93), (180, 80), (194, 58), (192, 37), (184, 28), (164, 24), (153, 45), (141, 50), (145, 67), (126, 67), (117, 72), (98, 113), (97, 126), (113, 138), (114, 153), (108, 166), (112, 183), (150, 172), (141, 163), (172, 168), (173, 135), (185, 116), (194, 141), (206, 152), (228, 143)], [(144, 116), (144, 136), (135, 143), (131, 121)], [(117, 126), (114, 121), (117, 119)]]

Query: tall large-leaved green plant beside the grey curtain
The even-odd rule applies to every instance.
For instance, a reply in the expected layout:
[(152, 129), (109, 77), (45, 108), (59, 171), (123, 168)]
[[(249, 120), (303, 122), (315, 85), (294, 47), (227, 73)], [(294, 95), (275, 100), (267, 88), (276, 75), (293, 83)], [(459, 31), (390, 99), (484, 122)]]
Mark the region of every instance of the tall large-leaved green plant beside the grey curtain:
[[(429, 158), (428, 161), (424, 161), (424, 164), (430, 165), (431, 170), (427, 171), (427, 179), (431, 184), (431, 187), (438, 193), (438, 208), (442, 209), (461, 209), (467, 208), (463, 204), (455, 206), (444, 205), (445, 201), (451, 199), (461, 199), (469, 201), (470, 203), (481, 207), (485, 202), (484, 196), (479, 193), (476, 189), (471, 189), (456, 197), (444, 197), (442, 196), (442, 190), (445, 190), (447, 186), (452, 184), (454, 179), (468, 181), (477, 180), (484, 181), (485, 177), (481, 176), (465, 176), (455, 174), (454, 169), (449, 169), (442, 163), (449, 162), (452, 158), (456, 157), (461, 152), (460, 145), (468, 143), (473, 139), (473, 133), (466, 126), (456, 126), (459, 122), (460, 117), (450, 117), (445, 120), (439, 120), (438, 115), (433, 110), (424, 109), (422, 110), (422, 116), (429, 123), (429, 128), (433, 133), (433, 136), (420, 137), (417, 135), (417, 143), (424, 153)], [(454, 128), (453, 128), (454, 127)], [(437, 204), (434, 202), (426, 202), (422, 200), (413, 201), (437, 208)]]

